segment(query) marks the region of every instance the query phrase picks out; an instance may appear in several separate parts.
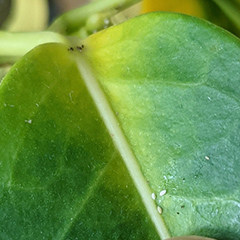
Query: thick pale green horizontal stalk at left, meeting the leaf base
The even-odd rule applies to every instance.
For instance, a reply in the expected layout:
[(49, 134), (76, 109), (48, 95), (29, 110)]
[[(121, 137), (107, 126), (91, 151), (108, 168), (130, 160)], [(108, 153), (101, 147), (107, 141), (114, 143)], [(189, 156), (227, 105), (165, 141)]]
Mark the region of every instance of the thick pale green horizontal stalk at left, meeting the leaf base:
[(0, 62), (14, 62), (32, 48), (48, 42), (68, 43), (65, 37), (53, 32), (10, 33), (0, 31)]

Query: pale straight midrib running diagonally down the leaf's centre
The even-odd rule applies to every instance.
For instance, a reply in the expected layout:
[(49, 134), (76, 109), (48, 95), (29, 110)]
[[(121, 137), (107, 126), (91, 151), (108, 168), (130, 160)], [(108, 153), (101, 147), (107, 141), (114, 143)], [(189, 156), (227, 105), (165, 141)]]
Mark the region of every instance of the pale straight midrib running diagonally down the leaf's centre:
[(162, 216), (157, 211), (157, 206), (151, 198), (151, 189), (145, 180), (137, 159), (130, 148), (128, 141), (120, 127), (120, 124), (114, 115), (112, 108), (102, 91), (98, 81), (93, 76), (91, 68), (84, 56), (76, 55), (76, 63), (80, 75), (92, 97), (97, 110), (99, 111), (103, 122), (109, 132), (110, 137), (118, 149), (128, 171), (134, 182), (134, 185), (140, 194), (142, 202), (151, 218), (156, 231), (161, 239), (170, 238), (170, 234), (165, 226)]

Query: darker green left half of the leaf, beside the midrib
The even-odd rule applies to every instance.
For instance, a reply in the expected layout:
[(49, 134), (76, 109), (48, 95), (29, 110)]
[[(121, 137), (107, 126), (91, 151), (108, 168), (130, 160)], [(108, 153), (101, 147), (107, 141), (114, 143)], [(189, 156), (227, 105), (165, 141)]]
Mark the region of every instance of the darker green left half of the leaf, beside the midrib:
[(67, 47), (28, 54), (0, 96), (1, 239), (158, 239)]

